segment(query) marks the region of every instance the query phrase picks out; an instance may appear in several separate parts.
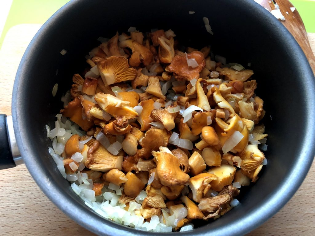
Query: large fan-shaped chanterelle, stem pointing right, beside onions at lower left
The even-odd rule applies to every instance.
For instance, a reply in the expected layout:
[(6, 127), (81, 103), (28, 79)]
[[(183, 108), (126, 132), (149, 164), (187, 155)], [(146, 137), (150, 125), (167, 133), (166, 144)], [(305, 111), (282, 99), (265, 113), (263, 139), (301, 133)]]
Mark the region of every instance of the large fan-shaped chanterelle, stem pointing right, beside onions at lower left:
[(123, 156), (109, 153), (98, 141), (94, 141), (88, 151), (88, 159), (84, 165), (94, 171), (107, 172), (111, 169), (121, 170)]

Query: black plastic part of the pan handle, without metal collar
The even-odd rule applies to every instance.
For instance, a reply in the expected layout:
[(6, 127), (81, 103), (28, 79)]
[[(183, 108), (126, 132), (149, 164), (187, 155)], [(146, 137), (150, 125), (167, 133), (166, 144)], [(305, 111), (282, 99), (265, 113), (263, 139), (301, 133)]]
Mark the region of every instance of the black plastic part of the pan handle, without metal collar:
[(16, 166), (9, 145), (6, 117), (0, 114), (0, 170)]

